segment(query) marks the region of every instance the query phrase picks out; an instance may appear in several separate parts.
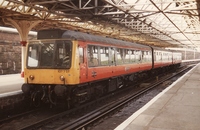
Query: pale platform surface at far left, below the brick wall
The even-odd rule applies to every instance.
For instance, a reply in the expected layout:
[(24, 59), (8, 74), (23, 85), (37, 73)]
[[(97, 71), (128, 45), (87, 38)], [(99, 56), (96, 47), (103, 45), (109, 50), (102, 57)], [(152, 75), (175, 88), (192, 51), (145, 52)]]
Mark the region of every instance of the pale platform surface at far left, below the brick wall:
[(0, 94), (21, 90), (24, 79), (20, 74), (0, 75)]

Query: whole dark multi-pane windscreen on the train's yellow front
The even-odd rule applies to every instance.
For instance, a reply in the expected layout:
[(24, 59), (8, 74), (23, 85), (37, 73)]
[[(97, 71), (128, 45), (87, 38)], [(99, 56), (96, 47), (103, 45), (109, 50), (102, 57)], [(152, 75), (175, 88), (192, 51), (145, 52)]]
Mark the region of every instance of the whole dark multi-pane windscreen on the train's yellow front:
[(28, 45), (28, 68), (70, 68), (71, 41), (44, 40)]

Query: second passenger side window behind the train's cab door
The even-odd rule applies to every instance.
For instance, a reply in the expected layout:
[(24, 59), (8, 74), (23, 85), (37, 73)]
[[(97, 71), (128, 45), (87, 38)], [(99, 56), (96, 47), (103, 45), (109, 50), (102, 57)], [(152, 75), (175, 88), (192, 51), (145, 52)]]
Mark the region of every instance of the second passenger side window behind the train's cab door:
[(109, 65), (109, 51), (108, 47), (100, 47), (100, 64)]

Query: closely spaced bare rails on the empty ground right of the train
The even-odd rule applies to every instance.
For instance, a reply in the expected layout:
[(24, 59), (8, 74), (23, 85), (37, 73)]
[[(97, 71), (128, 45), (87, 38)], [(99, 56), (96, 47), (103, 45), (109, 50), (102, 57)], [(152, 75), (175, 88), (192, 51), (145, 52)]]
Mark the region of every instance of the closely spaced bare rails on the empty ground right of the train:
[(126, 105), (127, 103), (129, 103), (130, 101), (134, 100), (135, 98), (138, 98), (139, 96), (141, 96), (142, 94), (148, 92), (149, 90), (157, 87), (158, 85), (162, 84), (163, 82), (172, 79), (174, 77), (176, 77), (177, 75), (182, 74), (183, 72), (187, 71), (191, 69), (191, 66), (188, 68), (185, 68), (181, 71), (179, 71), (178, 73), (174, 73), (171, 76), (165, 77), (155, 83), (150, 84), (147, 88), (141, 89), (140, 91), (130, 94), (127, 97), (124, 97), (121, 100), (118, 100), (116, 102), (113, 102), (111, 104), (107, 104), (97, 110), (94, 110), (90, 113), (88, 113), (87, 115), (78, 118), (77, 120), (70, 122), (68, 124), (62, 125), (59, 128), (57, 128), (56, 130), (63, 130), (63, 129), (69, 129), (69, 130), (74, 130), (74, 129), (85, 129), (85, 127), (87, 127), (88, 125), (90, 125), (91, 123), (95, 122), (96, 120), (100, 120), (101, 118), (104, 118), (105, 116), (109, 116), (110, 113), (115, 113), (116, 110), (120, 109), (121, 107), (123, 107), (124, 105)]

